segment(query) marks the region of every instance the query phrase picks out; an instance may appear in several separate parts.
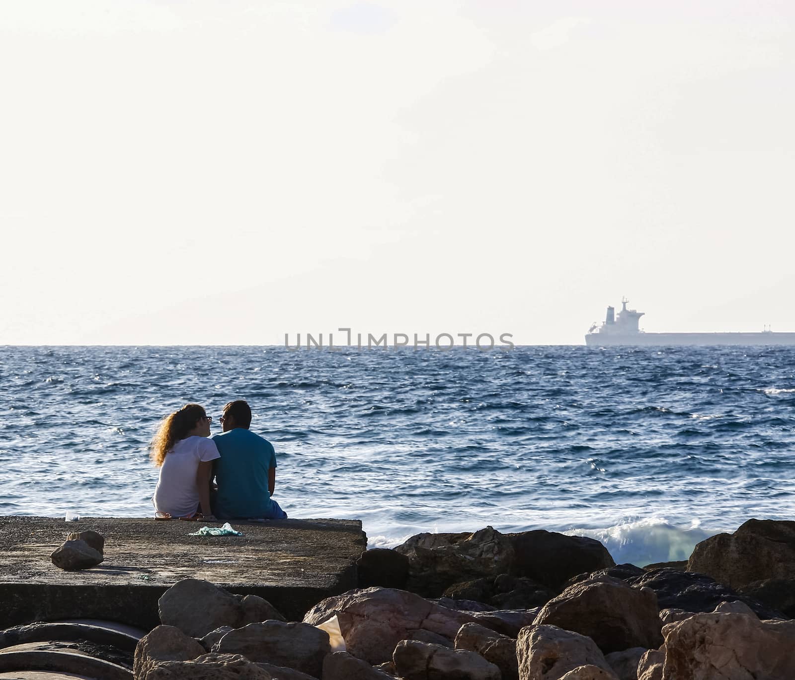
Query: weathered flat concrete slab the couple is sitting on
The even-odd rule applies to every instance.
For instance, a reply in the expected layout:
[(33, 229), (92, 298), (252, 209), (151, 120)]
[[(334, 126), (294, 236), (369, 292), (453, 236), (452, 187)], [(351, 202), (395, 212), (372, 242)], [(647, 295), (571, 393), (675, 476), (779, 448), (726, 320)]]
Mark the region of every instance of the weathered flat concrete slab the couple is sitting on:
[[(233, 523), (242, 536), (189, 536), (202, 523), (149, 518), (0, 517), (0, 629), (36, 620), (114, 620), (149, 630), (157, 600), (182, 578), (265, 597), (301, 620), (324, 597), (356, 587), (366, 548), (358, 520)], [(105, 537), (105, 561), (67, 572), (50, 554), (70, 531)]]

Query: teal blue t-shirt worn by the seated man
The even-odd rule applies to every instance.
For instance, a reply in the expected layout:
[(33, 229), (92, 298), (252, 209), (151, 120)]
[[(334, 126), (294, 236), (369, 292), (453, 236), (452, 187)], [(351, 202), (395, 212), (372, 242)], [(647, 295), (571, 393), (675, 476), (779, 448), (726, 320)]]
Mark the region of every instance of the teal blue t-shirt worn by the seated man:
[(223, 519), (268, 516), (273, 508), (268, 470), (276, 467), (273, 445), (242, 427), (212, 440), (221, 454), (215, 460), (215, 515)]

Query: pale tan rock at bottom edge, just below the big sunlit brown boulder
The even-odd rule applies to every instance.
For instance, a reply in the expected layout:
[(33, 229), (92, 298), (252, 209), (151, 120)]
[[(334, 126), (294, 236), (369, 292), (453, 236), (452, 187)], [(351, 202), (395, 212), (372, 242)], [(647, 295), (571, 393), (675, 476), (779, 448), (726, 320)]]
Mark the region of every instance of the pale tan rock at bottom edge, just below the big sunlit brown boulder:
[(611, 668), (589, 637), (556, 626), (528, 626), (516, 640), (519, 678), (558, 680), (580, 666)]

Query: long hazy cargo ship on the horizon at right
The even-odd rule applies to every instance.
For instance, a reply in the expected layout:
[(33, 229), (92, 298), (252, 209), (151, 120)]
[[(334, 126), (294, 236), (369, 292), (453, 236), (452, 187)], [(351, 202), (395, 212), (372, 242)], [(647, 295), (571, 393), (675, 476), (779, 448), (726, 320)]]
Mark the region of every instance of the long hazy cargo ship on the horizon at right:
[(765, 329), (759, 333), (646, 333), (638, 323), (645, 312), (627, 309), (629, 300), (622, 298), (621, 311), (607, 307), (601, 326), (594, 323), (585, 335), (589, 347), (604, 346), (671, 346), (671, 345), (793, 345), (795, 333), (774, 333)]

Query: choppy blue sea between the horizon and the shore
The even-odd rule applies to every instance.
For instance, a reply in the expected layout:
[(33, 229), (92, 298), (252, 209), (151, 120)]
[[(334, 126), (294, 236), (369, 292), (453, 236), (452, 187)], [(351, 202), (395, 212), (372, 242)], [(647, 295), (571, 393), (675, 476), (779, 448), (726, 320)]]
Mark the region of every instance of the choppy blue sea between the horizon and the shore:
[(795, 507), (795, 348), (0, 347), (0, 514), (152, 516), (149, 442), (245, 399), (289, 516), (547, 529), (617, 563)]

